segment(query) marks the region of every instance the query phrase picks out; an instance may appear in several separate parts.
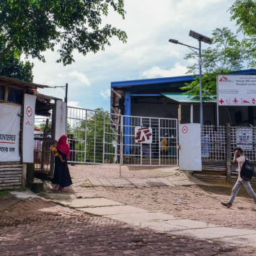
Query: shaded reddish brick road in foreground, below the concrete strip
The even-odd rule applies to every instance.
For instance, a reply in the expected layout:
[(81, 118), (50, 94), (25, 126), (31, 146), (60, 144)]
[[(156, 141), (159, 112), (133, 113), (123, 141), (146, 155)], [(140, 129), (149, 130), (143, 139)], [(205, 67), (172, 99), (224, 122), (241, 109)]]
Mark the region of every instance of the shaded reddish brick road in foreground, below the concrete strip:
[(0, 255), (253, 255), (234, 247), (137, 229), (41, 198), (1, 195)]

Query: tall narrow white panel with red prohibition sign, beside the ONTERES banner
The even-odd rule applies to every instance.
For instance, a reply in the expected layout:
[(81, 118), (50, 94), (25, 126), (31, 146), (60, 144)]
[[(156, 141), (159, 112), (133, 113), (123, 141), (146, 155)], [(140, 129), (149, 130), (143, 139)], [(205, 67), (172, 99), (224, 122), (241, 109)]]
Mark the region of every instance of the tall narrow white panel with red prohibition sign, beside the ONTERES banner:
[(34, 162), (34, 131), (35, 131), (35, 100), (36, 96), (25, 94), (24, 97), (24, 121), (22, 160), (25, 163)]

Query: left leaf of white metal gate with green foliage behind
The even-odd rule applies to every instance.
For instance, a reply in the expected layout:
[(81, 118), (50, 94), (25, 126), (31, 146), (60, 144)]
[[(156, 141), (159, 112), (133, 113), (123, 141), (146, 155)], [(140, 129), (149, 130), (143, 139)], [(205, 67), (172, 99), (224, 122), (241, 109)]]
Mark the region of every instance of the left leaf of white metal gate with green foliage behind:
[(70, 163), (118, 163), (120, 115), (68, 107)]

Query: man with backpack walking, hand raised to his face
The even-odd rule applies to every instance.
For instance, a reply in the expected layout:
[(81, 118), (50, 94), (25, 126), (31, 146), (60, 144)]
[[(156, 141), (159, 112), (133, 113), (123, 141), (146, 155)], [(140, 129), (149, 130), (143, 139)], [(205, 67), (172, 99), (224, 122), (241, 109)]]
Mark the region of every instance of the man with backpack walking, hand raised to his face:
[[(231, 197), (229, 198), (228, 203), (221, 202), (221, 204), (223, 206), (226, 206), (227, 208), (231, 208), (231, 206), (232, 206), (232, 204), (234, 202), (234, 198), (236, 198), (237, 193), (239, 192), (239, 190), (242, 187), (242, 185), (244, 185), (245, 189), (252, 196), (252, 198), (253, 198), (253, 200), (255, 201), (255, 204), (256, 204), (256, 194), (255, 194), (255, 192), (252, 189), (250, 181), (249, 180), (243, 180), (242, 177), (240, 176), (241, 167), (242, 167), (242, 164), (244, 163), (245, 159), (246, 158), (242, 154), (242, 149), (241, 148), (234, 149), (233, 163), (234, 164), (238, 164), (238, 179), (237, 179), (236, 184), (232, 188)], [(252, 211), (256, 211), (256, 208), (253, 208)]]

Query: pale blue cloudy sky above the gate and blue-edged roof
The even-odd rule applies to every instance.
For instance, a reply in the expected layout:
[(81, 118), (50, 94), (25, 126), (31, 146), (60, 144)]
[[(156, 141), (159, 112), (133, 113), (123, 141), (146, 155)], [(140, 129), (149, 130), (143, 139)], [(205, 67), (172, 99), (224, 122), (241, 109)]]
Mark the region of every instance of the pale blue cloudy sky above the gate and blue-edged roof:
[[(170, 38), (198, 48), (198, 41), (188, 35), (190, 30), (208, 37), (217, 27), (237, 30), (230, 21), (231, 0), (124, 1), (125, 19), (111, 10), (102, 23), (125, 30), (127, 43), (112, 38), (105, 51), (87, 56), (74, 52), (76, 62), (69, 66), (56, 63), (58, 53), (46, 51), (46, 63), (31, 60), (35, 63), (34, 82), (58, 88), (39, 92), (64, 99), (65, 91), (59, 87), (67, 83), (69, 106), (110, 110), (112, 81), (185, 75), (186, 67), (193, 64), (184, 60), (191, 50), (169, 43)], [(202, 43), (202, 48), (208, 46)]]

